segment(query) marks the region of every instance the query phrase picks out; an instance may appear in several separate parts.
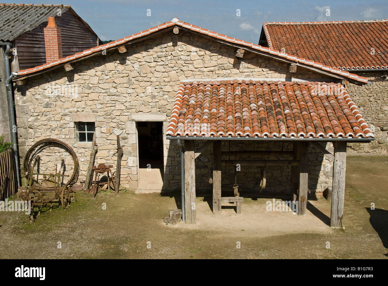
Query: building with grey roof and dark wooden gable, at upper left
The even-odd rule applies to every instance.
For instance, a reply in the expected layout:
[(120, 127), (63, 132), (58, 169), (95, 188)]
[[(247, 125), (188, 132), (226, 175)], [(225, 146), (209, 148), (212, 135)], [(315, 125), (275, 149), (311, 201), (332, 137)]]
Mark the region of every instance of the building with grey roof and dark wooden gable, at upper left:
[[(47, 29), (48, 19), (55, 19), (55, 26)], [(52, 32), (51, 35), (49, 33)], [(50, 39), (52, 37), (52, 39)], [(61, 38), (61, 54), (53, 53), (50, 57), (50, 40)], [(0, 4), (0, 42), (9, 43), (12, 48), (10, 56), (10, 72), (28, 69), (45, 64), (51, 60), (67, 57), (74, 53), (100, 45), (101, 41), (90, 26), (76, 14), (70, 6), (34, 5), (34, 4)], [(45, 45), (46, 42), (46, 45)], [(6, 47), (0, 46), (0, 98), (7, 102), (4, 53)], [(7, 104), (0, 106), (3, 115), (0, 118), (0, 135), (10, 139), (9, 111)]]

